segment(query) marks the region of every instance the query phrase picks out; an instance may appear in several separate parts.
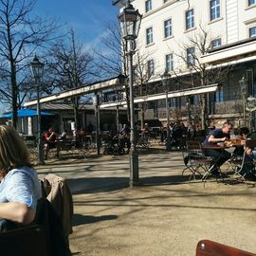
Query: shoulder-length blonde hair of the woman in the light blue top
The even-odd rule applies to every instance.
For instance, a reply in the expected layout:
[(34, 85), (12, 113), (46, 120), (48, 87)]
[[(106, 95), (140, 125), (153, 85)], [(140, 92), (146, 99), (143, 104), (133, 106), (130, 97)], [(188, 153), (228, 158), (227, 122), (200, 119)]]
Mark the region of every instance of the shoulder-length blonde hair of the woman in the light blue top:
[(32, 166), (22, 137), (9, 125), (0, 125), (0, 172), (4, 176), (19, 166)]

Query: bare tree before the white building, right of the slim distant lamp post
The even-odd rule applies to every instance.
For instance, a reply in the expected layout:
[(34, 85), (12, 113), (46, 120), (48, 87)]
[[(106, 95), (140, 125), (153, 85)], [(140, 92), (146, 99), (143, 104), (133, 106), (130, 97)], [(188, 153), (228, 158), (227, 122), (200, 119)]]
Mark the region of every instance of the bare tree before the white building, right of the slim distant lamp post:
[[(211, 32), (204, 27), (199, 26), (196, 32), (192, 33), (186, 38), (187, 43), (178, 44), (182, 48), (182, 52), (174, 53), (177, 57), (187, 65), (190, 70), (190, 75), (184, 79), (177, 76), (174, 72), (175, 79), (182, 83), (185, 87), (206, 86), (212, 83), (221, 83), (227, 80), (227, 75), (231, 66), (228, 67), (214, 67), (210, 64), (202, 64), (200, 57), (207, 54), (212, 48), (212, 40), (216, 39), (211, 35)], [(207, 94), (199, 96), (200, 116), (202, 128), (206, 128), (208, 120), (207, 110)]]

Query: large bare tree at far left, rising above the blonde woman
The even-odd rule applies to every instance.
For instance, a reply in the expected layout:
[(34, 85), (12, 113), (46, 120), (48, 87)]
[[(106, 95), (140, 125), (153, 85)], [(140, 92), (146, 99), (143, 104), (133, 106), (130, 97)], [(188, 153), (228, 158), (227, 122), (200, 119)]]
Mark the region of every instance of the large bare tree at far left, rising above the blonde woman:
[(34, 0), (0, 0), (0, 101), (11, 104), (15, 128), (17, 109), (26, 95), (26, 91), (21, 91), (21, 84), (27, 58), (31, 58), (35, 49), (43, 46), (57, 29), (54, 21), (32, 18), (34, 4)]

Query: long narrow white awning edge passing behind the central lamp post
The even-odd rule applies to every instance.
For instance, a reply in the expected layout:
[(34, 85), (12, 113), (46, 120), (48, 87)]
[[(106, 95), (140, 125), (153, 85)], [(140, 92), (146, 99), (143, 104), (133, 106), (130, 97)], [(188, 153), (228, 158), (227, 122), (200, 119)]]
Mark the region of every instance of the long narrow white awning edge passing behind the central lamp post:
[[(170, 98), (210, 93), (210, 92), (215, 92), (217, 90), (218, 90), (218, 83), (214, 83), (214, 84), (206, 85), (204, 87), (194, 87), (194, 88), (190, 88), (190, 89), (168, 92), (167, 97), (168, 97), (168, 99), (170, 99)], [(156, 100), (163, 100), (163, 99), (166, 99), (166, 93), (137, 97), (134, 100), (134, 102), (140, 103), (140, 102), (145, 102), (145, 101), (156, 101)], [(113, 107), (113, 106), (126, 105), (126, 103), (127, 103), (126, 101), (106, 102), (106, 103), (101, 103), (100, 108), (108, 108), (108, 107)]]

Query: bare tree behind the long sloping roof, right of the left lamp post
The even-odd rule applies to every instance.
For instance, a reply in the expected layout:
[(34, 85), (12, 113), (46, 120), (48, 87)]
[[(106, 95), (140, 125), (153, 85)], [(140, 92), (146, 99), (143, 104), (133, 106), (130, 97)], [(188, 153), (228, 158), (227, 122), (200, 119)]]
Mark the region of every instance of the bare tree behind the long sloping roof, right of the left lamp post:
[[(51, 47), (48, 58), (50, 60), (50, 76), (59, 91), (89, 84), (95, 77), (98, 77), (93, 54), (82, 46), (73, 29), (69, 30), (65, 40), (59, 41)], [(70, 99), (76, 127), (78, 127), (79, 110), (82, 107), (81, 100), (82, 98), (79, 96)]]

